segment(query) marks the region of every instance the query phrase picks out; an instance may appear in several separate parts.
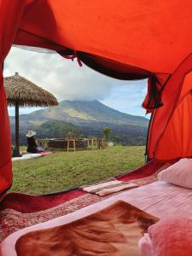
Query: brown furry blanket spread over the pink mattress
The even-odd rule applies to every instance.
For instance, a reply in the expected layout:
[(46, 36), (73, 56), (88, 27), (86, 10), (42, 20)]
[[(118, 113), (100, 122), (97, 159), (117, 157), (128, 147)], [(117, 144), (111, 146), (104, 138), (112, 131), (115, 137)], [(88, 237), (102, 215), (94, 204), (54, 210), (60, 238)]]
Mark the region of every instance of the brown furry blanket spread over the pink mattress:
[(134, 256), (137, 242), (158, 218), (124, 201), (47, 230), (21, 236), (16, 242), (18, 256)]

